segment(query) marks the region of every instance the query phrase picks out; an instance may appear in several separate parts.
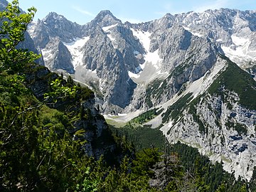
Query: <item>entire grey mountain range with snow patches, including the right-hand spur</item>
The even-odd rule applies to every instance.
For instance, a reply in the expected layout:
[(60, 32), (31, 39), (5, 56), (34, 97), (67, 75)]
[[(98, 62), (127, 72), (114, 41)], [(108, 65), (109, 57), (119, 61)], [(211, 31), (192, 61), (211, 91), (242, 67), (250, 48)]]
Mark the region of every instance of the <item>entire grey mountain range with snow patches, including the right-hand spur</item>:
[(256, 11), (166, 14), (122, 23), (101, 11), (78, 25), (50, 13), (28, 28), (50, 70), (95, 90), (112, 124), (156, 110), (144, 125), (196, 147), (238, 178), (256, 166)]

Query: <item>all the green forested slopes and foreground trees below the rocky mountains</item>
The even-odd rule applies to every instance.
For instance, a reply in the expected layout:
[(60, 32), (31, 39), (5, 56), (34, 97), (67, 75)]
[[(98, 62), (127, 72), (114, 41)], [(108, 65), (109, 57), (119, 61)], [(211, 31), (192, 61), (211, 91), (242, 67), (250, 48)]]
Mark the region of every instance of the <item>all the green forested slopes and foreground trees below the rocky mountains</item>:
[(92, 90), (16, 48), (35, 13), (15, 0), (0, 14), (0, 191), (256, 190), (256, 171), (250, 183), (235, 180), (196, 149), (138, 125), (156, 110), (108, 126), (90, 105)]

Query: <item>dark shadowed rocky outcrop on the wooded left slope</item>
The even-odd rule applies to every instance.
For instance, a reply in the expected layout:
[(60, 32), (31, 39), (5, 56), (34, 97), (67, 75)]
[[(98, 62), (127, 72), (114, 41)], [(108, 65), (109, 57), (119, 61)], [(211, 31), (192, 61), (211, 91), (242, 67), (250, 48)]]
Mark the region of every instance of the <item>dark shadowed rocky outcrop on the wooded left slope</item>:
[[(100, 156), (111, 156), (112, 159), (117, 160), (120, 154), (117, 151), (117, 144), (112, 137), (112, 133), (105, 122), (104, 117), (100, 114), (99, 106), (95, 104), (95, 97), (92, 95), (80, 102), (81, 98), (73, 98), (72, 100), (58, 100), (58, 102), (52, 102), (46, 100), (43, 95), (50, 90), (50, 81), (58, 78), (56, 73), (51, 73), (48, 68), (38, 65), (28, 65), (23, 70), (23, 74), (26, 75), (24, 85), (28, 87), (38, 100), (53, 107), (57, 110), (63, 110), (64, 112), (78, 115), (82, 110), (85, 113), (85, 117), (75, 119), (72, 122), (73, 129), (68, 129), (73, 139), (80, 139), (82, 144), (82, 150), (88, 156), (100, 159)], [(65, 81), (64, 81), (65, 82)], [(79, 134), (77, 134), (80, 132)], [(107, 162), (112, 164), (113, 162)]]

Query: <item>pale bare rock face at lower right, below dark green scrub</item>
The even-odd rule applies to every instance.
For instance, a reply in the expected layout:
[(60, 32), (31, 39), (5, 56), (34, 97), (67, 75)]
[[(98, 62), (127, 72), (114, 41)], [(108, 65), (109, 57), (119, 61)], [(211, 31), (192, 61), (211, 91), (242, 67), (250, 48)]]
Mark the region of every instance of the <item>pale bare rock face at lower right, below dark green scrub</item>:
[(171, 119), (161, 130), (169, 142), (185, 142), (198, 148), (212, 161), (222, 161), (224, 169), (250, 181), (256, 161), (256, 111), (242, 107), (235, 92), (204, 95), (195, 107), (184, 110), (178, 121)]

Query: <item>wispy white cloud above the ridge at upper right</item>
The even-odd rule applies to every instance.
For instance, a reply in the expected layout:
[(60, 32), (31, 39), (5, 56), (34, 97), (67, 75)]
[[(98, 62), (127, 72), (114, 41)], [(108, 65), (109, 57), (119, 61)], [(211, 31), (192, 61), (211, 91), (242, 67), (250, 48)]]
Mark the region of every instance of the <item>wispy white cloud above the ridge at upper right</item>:
[(203, 4), (202, 6), (194, 6), (193, 9), (196, 12), (203, 12), (203, 11), (206, 11), (207, 9), (220, 9), (228, 6), (229, 4), (230, 4), (230, 0), (215, 0), (215, 1), (210, 1), (206, 4)]

